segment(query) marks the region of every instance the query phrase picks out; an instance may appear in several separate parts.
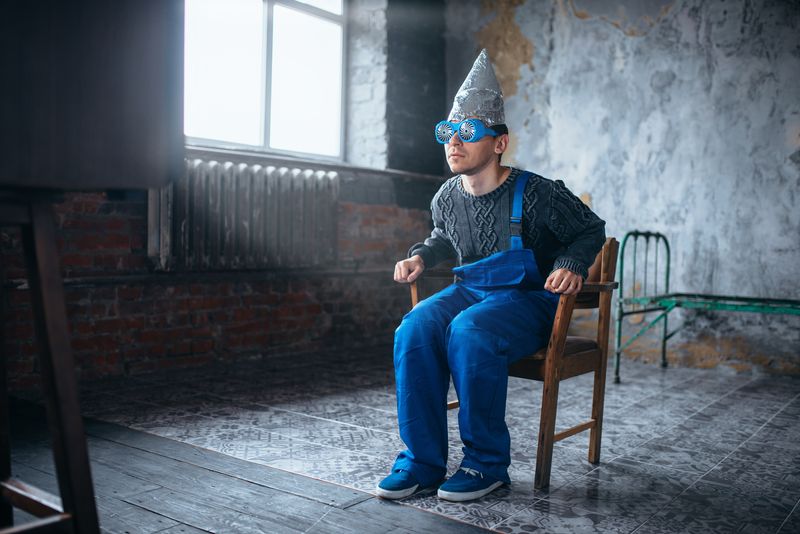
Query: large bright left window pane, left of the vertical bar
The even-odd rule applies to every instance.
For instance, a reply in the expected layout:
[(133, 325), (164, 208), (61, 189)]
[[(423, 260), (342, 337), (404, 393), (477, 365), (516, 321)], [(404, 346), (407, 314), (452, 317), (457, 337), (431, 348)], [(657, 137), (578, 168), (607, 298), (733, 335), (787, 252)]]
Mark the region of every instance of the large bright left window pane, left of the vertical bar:
[(261, 0), (186, 0), (184, 133), (263, 144)]

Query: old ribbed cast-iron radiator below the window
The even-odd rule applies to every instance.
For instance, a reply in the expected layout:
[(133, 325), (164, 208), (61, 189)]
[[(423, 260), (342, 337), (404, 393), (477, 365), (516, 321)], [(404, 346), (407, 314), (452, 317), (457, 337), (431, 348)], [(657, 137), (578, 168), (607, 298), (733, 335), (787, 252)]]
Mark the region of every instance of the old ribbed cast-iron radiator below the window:
[(315, 267), (336, 257), (336, 172), (187, 159), (149, 197), (148, 253), (165, 270)]

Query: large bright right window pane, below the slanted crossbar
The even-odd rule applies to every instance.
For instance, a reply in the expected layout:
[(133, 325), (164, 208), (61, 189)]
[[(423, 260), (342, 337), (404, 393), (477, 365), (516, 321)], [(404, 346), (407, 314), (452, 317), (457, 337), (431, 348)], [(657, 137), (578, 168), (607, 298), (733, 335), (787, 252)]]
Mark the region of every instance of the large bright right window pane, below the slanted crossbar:
[(342, 28), (275, 6), (270, 146), (340, 155)]

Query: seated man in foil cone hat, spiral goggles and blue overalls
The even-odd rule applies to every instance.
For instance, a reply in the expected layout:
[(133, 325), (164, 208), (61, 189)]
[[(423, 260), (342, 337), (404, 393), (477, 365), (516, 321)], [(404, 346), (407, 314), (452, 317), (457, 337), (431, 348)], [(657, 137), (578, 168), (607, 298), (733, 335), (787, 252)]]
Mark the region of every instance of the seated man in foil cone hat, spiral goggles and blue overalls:
[(439, 497), (477, 499), (510, 483), (508, 365), (547, 344), (559, 294), (580, 291), (605, 241), (605, 223), (563, 183), (501, 166), (504, 115), (483, 50), (435, 129), (456, 176), (431, 202), (430, 237), (395, 265), (394, 279), (409, 283), (442, 260), (459, 263), (457, 282), (420, 302), (395, 334), (398, 423), (408, 449), (378, 484), (383, 498), (444, 479), (451, 376), (464, 458)]

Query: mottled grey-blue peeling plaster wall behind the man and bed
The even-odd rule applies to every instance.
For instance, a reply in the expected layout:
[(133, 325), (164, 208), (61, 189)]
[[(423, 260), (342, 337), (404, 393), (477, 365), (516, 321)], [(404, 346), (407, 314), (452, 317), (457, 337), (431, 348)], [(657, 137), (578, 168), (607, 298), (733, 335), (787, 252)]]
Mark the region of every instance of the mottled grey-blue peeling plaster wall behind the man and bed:
[[(504, 161), (587, 195), (609, 235), (666, 234), (674, 290), (800, 299), (800, 3), (449, 0), (446, 21), (448, 97), (495, 59)], [(679, 363), (800, 372), (799, 317), (680, 319)]]

